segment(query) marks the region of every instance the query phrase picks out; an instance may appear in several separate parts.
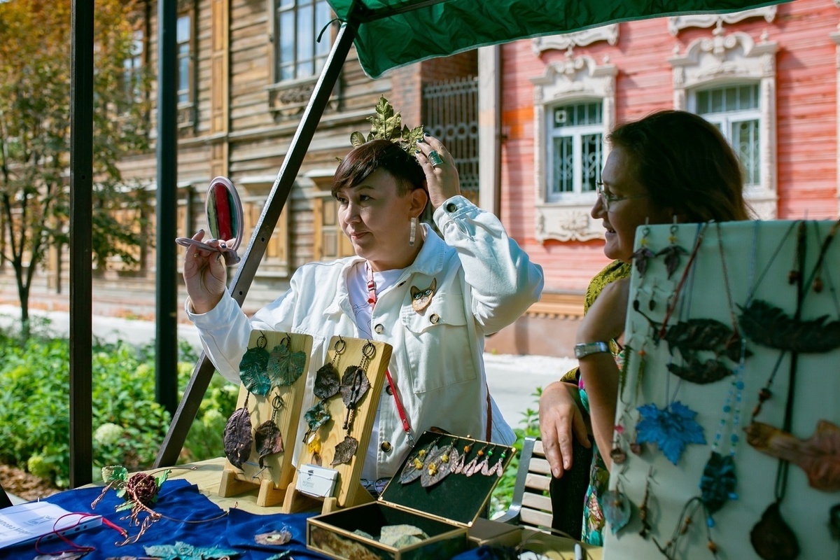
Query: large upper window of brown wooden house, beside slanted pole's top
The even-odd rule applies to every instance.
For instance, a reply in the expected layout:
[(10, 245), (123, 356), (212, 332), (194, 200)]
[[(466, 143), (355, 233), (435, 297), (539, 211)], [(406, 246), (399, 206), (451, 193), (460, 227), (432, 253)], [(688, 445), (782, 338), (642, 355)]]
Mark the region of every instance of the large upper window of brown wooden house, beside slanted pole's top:
[(276, 80), (290, 81), (318, 74), (327, 60), (331, 36), (318, 34), (331, 18), (326, 0), (275, 0)]

